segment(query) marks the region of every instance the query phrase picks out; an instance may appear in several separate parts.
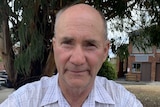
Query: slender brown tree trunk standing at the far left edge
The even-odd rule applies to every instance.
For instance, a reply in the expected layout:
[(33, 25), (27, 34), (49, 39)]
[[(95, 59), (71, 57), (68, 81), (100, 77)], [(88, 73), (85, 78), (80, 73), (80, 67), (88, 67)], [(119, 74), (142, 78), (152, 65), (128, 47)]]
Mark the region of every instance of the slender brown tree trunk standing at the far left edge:
[(3, 62), (5, 64), (5, 69), (7, 71), (11, 71), (8, 74), (8, 78), (10, 79), (10, 81), (14, 82), (16, 72), (14, 71), (14, 66), (13, 66), (14, 55), (11, 49), (12, 43), (10, 39), (9, 25), (8, 25), (9, 12), (10, 12), (10, 8), (8, 6), (7, 1), (1, 0), (0, 1), (0, 25), (1, 25), (0, 31), (2, 32), (1, 38), (4, 40), (3, 42), (4, 49), (2, 50)]

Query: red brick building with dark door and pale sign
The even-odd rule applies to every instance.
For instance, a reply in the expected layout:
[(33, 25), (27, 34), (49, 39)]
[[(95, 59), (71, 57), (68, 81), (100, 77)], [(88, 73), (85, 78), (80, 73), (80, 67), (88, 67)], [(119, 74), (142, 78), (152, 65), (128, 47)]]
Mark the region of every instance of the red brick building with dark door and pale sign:
[(130, 43), (128, 51), (126, 80), (160, 81), (160, 48), (152, 46), (144, 52)]

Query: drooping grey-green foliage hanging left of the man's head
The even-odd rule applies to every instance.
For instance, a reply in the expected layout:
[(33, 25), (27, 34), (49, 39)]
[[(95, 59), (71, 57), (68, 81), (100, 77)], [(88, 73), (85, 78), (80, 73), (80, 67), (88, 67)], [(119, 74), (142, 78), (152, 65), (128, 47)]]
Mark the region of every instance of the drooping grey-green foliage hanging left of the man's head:
[(45, 20), (48, 13), (42, 13), (47, 9), (41, 10), (41, 2), (43, 1), (14, 1), (12, 13), (15, 16), (11, 18), (12, 42), (13, 44), (20, 42), (19, 54), (15, 56), (14, 65), (18, 73), (25, 76), (30, 76), (31, 72), (40, 74), (42, 64), (46, 60), (44, 57), (45, 51), (47, 51), (45, 32), (50, 23)]

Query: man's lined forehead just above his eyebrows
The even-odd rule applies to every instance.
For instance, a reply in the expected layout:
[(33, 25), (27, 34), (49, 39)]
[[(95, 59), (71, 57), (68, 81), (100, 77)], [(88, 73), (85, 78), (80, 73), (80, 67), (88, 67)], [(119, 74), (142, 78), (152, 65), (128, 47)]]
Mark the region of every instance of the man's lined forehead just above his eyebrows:
[(87, 19), (64, 20), (57, 27), (57, 38), (72, 38), (73, 40), (103, 40), (102, 28)]

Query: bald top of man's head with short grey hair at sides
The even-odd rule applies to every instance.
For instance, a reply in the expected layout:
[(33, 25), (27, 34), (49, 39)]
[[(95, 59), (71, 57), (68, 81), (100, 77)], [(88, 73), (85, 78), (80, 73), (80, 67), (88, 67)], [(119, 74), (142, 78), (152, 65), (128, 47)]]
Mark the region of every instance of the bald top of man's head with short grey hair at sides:
[(61, 27), (61, 25), (73, 22), (73, 24), (82, 23), (82, 20), (83, 24), (97, 27), (97, 30), (102, 33), (105, 39), (107, 39), (107, 26), (104, 16), (95, 8), (87, 4), (76, 4), (60, 10), (55, 21), (55, 36), (57, 28)]

